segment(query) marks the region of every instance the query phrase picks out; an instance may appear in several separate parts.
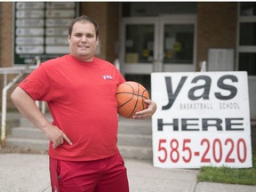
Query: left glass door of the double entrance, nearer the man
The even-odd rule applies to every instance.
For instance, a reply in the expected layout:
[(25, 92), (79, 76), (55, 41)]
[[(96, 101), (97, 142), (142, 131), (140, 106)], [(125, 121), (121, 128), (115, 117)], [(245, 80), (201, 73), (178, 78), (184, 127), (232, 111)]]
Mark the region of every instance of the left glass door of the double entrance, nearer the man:
[(128, 18), (122, 24), (121, 71), (124, 74), (150, 74), (154, 71), (156, 18)]

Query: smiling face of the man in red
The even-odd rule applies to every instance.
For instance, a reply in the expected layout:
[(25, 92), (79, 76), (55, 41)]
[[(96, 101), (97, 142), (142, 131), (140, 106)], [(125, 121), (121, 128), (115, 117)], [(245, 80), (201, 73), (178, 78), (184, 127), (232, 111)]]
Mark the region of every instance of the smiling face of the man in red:
[(99, 43), (94, 25), (89, 21), (76, 22), (72, 34), (68, 36), (68, 43), (72, 56), (78, 60), (92, 61)]

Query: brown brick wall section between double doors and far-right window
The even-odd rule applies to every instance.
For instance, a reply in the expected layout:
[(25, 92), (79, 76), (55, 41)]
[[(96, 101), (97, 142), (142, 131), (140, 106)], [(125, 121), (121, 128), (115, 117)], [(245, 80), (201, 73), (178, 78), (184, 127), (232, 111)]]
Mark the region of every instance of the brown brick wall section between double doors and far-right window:
[(209, 48), (236, 49), (237, 3), (198, 3), (196, 67)]

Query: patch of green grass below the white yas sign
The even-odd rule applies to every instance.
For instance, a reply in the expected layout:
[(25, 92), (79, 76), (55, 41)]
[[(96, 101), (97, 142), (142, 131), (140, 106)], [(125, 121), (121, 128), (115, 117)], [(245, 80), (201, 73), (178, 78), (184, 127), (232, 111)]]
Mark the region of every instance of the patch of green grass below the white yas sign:
[(197, 180), (240, 185), (256, 185), (256, 150), (252, 152), (252, 168), (235, 169), (224, 166), (204, 166), (200, 169)]

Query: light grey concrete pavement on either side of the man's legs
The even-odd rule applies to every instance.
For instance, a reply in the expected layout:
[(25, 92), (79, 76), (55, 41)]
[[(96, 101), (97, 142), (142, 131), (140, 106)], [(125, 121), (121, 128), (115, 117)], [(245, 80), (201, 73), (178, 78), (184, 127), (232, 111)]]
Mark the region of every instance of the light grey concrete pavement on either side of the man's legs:
[[(48, 159), (0, 153), (0, 192), (51, 192)], [(161, 169), (136, 159), (124, 162), (131, 192), (256, 192), (256, 186), (197, 182), (198, 169)]]

